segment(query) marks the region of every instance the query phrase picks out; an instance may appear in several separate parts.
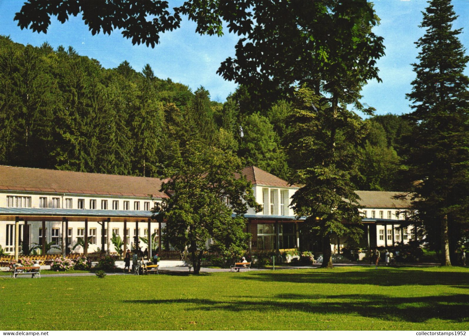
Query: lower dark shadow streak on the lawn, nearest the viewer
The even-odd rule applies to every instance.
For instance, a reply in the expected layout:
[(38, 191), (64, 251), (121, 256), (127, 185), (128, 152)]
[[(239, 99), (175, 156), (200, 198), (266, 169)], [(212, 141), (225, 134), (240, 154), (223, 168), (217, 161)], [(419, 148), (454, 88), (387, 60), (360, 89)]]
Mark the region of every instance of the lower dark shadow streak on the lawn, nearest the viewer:
[(386, 321), (424, 322), (433, 318), (469, 321), (469, 295), (390, 298), (385, 295), (297, 295), (281, 294), (274, 299), (237, 297), (234, 301), (212, 299), (126, 300), (133, 304), (181, 304), (185, 310), (232, 312), (300, 311), (312, 314), (357, 314)]

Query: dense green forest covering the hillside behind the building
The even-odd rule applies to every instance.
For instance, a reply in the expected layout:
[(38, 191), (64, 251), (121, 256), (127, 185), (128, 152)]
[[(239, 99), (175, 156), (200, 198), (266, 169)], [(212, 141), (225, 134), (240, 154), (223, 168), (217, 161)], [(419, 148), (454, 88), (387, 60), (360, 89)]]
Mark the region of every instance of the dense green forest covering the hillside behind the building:
[[(160, 79), (149, 65), (106, 69), (71, 47), (0, 36), (0, 164), (160, 176), (198, 140), (289, 179), (293, 110), (285, 100), (262, 109), (243, 87), (214, 102), (203, 87)], [(387, 114), (365, 124), (356, 188), (405, 190), (400, 155), (409, 123)]]

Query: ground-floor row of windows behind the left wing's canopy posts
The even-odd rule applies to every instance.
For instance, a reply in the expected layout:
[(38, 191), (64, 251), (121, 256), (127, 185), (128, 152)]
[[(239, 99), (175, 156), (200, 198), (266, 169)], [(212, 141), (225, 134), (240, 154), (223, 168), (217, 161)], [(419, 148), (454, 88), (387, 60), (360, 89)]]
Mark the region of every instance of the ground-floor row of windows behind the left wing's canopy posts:
[[(24, 224), (20, 224), (19, 225), (19, 238), (20, 240), (23, 239), (23, 225)], [(115, 234), (116, 236), (119, 236), (119, 228), (114, 228), (112, 229), (112, 233)], [(84, 228), (77, 228), (76, 229), (76, 239), (78, 238), (81, 238), (81, 239), (84, 239), (84, 232), (85, 232), (85, 229)], [(96, 244), (97, 243), (97, 240), (96, 240), (96, 232), (97, 232), (97, 229), (96, 228), (89, 228), (89, 234), (88, 234), (88, 242), (90, 244)], [(156, 235), (158, 236), (159, 233), (158, 233), (158, 229), (154, 229), (154, 232), (156, 232)], [(15, 224), (7, 224), (7, 232), (6, 232), (6, 241), (5, 241), (5, 245), (6, 246), (14, 246), (15, 245)], [(42, 232), (42, 228), (39, 228), (39, 232), (38, 232), (38, 238), (39, 238), (39, 241), (38, 241), (38, 244), (39, 245), (42, 245), (42, 239), (43, 238), (46, 238), (47, 236), (47, 231), (44, 232), (44, 235), (43, 235), (43, 232)], [(73, 229), (72, 228), (68, 228), (68, 232), (67, 232), (67, 245), (70, 245), (72, 243), (72, 235), (73, 235)], [(148, 229), (144, 229), (144, 237), (146, 237), (148, 235)], [(127, 231), (126, 231), (126, 236), (127, 236), (127, 241), (130, 242), (130, 229), (127, 228)], [(140, 228), (138, 229), (138, 232), (136, 231), (136, 229), (134, 228), (134, 237), (135, 236), (138, 236), (140, 237)], [(104, 239), (107, 240), (107, 231), (104, 232)], [(60, 234), (60, 228), (52, 228), (51, 229), (51, 240), (53, 242), (52, 245), (60, 245), (60, 240), (61, 240), (61, 234)], [(20, 242), (20, 245), (21, 245), (21, 242)]]

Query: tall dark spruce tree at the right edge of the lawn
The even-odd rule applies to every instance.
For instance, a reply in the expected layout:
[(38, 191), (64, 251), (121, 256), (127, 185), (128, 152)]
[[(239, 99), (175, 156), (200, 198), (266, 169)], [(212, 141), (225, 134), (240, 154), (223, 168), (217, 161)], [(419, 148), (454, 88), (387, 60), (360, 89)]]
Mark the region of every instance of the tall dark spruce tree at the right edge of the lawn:
[[(450, 0), (431, 0), (423, 13), (426, 32), (413, 64), (416, 79), (407, 97), (413, 103), (408, 118), (416, 127), (409, 144), (410, 179), (416, 184), (413, 205), (428, 235), (441, 235), (442, 265), (451, 265), (458, 237), (467, 227), (461, 213), (469, 204), (469, 79), (463, 70), (469, 60), (453, 29), (457, 16)], [(440, 232), (432, 231), (434, 222)], [(451, 251), (451, 252), (450, 252)]]

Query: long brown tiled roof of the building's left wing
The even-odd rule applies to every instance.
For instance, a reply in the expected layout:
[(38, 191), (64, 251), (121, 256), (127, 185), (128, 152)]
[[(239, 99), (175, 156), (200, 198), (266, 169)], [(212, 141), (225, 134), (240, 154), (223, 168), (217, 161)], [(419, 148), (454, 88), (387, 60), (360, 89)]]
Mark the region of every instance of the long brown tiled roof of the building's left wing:
[(163, 198), (161, 179), (0, 165), (0, 189)]

